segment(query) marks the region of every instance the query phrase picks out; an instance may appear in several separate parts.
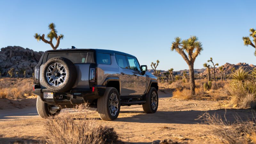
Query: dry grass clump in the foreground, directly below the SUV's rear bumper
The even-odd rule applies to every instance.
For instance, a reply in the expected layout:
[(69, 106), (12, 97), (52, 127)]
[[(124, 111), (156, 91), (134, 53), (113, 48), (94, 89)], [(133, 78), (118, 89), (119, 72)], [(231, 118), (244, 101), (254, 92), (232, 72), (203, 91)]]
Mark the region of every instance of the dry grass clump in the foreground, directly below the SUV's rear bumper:
[(101, 126), (94, 119), (86, 118), (85, 111), (80, 112), (82, 118), (78, 120), (69, 113), (47, 119), (44, 133), (47, 143), (105, 144), (117, 141), (118, 135), (114, 128)]

